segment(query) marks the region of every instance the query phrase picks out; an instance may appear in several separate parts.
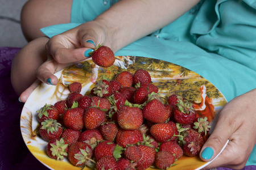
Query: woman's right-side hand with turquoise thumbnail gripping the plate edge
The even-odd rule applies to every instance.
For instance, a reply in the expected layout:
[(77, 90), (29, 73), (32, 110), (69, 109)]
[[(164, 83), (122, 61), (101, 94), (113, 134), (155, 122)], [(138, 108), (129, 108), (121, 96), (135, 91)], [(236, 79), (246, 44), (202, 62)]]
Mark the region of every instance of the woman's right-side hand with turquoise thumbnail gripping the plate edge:
[(209, 162), (225, 150), (207, 167), (242, 169), (256, 143), (256, 88), (231, 100), (222, 109), (213, 133), (201, 149), (200, 157)]

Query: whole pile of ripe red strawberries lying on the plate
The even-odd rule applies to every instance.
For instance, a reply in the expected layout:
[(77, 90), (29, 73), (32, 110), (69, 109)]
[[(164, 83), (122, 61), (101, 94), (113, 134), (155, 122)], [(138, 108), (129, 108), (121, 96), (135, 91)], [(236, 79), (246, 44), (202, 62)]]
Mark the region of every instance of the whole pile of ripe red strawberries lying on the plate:
[(53, 159), (96, 169), (167, 169), (183, 155), (198, 156), (207, 138), (207, 117), (180, 95), (158, 95), (146, 70), (98, 80), (90, 95), (80, 94), (78, 82), (69, 90), (66, 100), (37, 111)]

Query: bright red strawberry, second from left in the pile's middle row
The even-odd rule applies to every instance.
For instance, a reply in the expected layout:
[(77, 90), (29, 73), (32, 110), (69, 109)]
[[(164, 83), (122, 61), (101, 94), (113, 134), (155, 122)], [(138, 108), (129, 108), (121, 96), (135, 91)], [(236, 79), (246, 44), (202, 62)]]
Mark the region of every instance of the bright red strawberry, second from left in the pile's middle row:
[(63, 113), (64, 125), (73, 130), (82, 130), (84, 128), (84, 121), (82, 117), (84, 116), (84, 109), (82, 108), (71, 108), (67, 109)]

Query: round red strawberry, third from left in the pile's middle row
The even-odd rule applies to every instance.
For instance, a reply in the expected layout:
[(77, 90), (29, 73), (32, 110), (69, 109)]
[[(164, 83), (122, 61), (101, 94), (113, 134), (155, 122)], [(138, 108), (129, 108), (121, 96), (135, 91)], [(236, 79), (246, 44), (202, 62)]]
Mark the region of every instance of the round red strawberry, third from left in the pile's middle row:
[(105, 113), (97, 108), (89, 108), (82, 120), (86, 129), (96, 129), (105, 121)]

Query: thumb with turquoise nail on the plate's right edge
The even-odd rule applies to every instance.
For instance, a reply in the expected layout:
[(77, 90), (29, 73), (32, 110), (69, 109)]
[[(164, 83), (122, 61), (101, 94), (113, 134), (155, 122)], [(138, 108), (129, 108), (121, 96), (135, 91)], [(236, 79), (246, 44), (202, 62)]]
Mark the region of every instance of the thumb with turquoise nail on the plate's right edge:
[[(225, 130), (224, 130), (225, 129)], [(207, 139), (200, 151), (200, 158), (204, 162), (210, 162), (222, 152), (222, 148), (228, 143), (228, 139), (232, 135), (232, 131), (228, 127), (224, 118), (218, 117), (218, 121), (213, 133)]]

